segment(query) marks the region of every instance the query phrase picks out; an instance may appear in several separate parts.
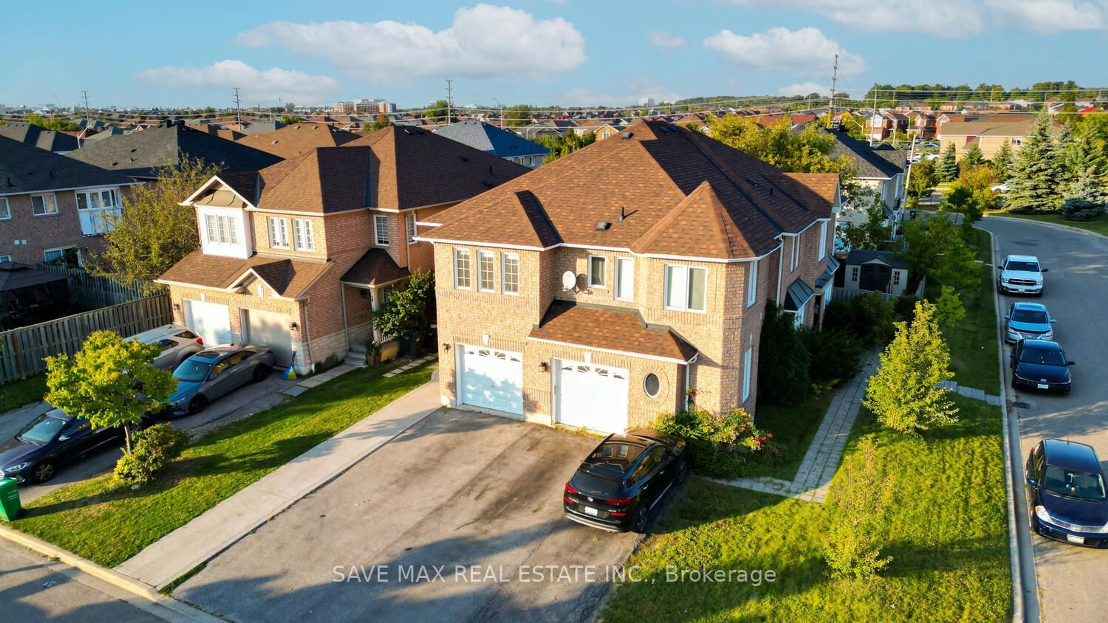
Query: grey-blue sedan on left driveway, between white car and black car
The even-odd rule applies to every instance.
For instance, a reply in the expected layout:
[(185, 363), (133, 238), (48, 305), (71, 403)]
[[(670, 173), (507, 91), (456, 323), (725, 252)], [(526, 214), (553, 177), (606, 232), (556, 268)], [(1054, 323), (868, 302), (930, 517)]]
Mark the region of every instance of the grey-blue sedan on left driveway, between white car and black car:
[(173, 371), (177, 390), (170, 396), (166, 415), (204, 411), (232, 390), (264, 380), (276, 360), (268, 346), (255, 344), (226, 344), (196, 353)]

